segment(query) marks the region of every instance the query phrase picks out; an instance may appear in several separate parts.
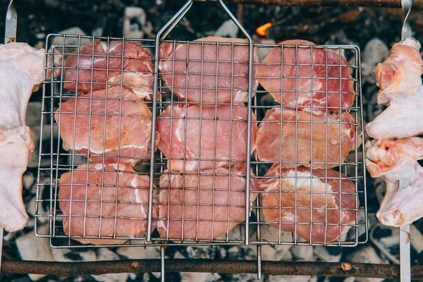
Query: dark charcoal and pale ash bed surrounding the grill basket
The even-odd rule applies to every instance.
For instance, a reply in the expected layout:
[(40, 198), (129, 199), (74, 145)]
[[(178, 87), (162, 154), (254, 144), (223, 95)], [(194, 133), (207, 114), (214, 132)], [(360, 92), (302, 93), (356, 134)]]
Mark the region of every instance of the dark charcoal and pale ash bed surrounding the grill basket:
[[(123, 37), (131, 35), (154, 39), (159, 29), (183, 6), (183, 0), (16, 0), (18, 11), (18, 42), (27, 42), (33, 47), (43, 48), (45, 38), (50, 33), (71, 32), (86, 35)], [(8, 1), (0, 0), (0, 36), (4, 37), (4, 22)], [(128, 18), (129, 7), (142, 8), (135, 18)], [(231, 11), (250, 34), (264, 23), (274, 23), (266, 37), (255, 35), (255, 39), (307, 39), (316, 44), (356, 44), (362, 50), (362, 99), (364, 122), (371, 121), (382, 110), (376, 106), (374, 66), (388, 56), (392, 44), (400, 39), (403, 11), (387, 8), (318, 8), (286, 6), (247, 6), (242, 13), (236, 5)], [(125, 18), (126, 11), (126, 18)], [(139, 9), (132, 10), (140, 11)], [(130, 26), (124, 28), (125, 20)], [(216, 30), (228, 20), (219, 4), (195, 3), (181, 23), (171, 32), (169, 39), (191, 40), (214, 35)], [(414, 11), (410, 17), (413, 35), (423, 42), (423, 16)], [(238, 33), (239, 37), (242, 37)], [(33, 94), (27, 123), (39, 127), (41, 111), (41, 92)], [(37, 144), (37, 140), (36, 144)], [(24, 231), (6, 234), (4, 257), (6, 259), (39, 259), (62, 261), (84, 261), (124, 258), (159, 258), (156, 248), (115, 247), (111, 249), (54, 249), (51, 250), (47, 239), (34, 235), (33, 211), (37, 184), (37, 158), (30, 163), (24, 176), (24, 200), (32, 219)], [(43, 178), (44, 176), (42, 176)], [(367, 175), (367, 202), (369, 212), (369, 241), (358, 247), (263, 247), (264, 259), (305, 260), (326, 262), (369, 262), (398, 264), (398, 228), (385, 228), (377, 224), (375, 213), (383, 195), (384, 183)], [(422, 223), (412, 226), (412, 264), (423, 261), (423, 238), (420, 233)], [(270, 232), (270, 231), (269, 231)], [(216, 258), (216, 259), (255, 259), (255, 247), (168, 247), (168, 257), (174, 258)], [(27, 276), (2, 274), (1, 281), (59, 281), (55, 276)], [(168, 274), (166, 281), (255, 281), (255, 274)], [(271, 277), (263, 281), (354, 281), (354, 278), (321, 277)], [(379, 279), (357, 279), (356, 281), (379, 281)], [(69, 277), (65, 281), (159, 281), (159, 274), (111, 274), (105, 276)]]

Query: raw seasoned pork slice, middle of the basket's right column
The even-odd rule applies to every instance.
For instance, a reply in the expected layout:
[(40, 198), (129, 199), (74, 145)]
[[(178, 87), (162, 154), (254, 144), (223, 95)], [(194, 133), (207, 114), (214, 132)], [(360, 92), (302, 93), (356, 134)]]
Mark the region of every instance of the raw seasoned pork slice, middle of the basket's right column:
[[(313, 118), (313, 135), (311, 135), (311, 118)], [(295, 120), (298, 123), (295, 123)], [(305, 111), (298, 111), (296, 118), (295, 110), (283, 109), (281, 117), (280, 107), (269, 109), (262, 124), (259, 125), (257, 133), (256, 150), (258, 159), (260, 161), (283, 161), (283, 167), (293, 168), (295, 167), (295, 140), (297, 140), (298, 166), (309, 167), (311, 166), (310, 161), (313, 159), (313, 168), (324, 168), (326, 161), (326, 124), (322, 123), (323, 121), (326, 121), (326, 114), (312, 116)], [(327, 125), (328, 168), (339, 166), (340, 132), (341, 162), (355, 148), (355, 121), (353, 116), (345, 111), (342, 113), (341, 130), (339, 121), (340, 116), (338, 114), (329, 114)], [(297, 132), (295, 126), (298, 126)], [(311, 154), (311, 141), (313, 154)], [(361, 145), (360, 138), (357, 139), (357, 145)]]

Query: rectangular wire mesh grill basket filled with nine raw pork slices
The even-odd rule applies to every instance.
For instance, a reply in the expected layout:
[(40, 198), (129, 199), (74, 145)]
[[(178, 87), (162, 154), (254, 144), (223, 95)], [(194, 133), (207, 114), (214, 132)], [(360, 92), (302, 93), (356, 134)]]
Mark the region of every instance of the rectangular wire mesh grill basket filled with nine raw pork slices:
[[(47, 38), (37, 235), (53, 247), (367, 240), (358, 47), (254, 44), (250, 57), (245, 42), (167, 40), (154, 61), (155, 47)], [(264, 49), (279, 63), (259, 62)]]

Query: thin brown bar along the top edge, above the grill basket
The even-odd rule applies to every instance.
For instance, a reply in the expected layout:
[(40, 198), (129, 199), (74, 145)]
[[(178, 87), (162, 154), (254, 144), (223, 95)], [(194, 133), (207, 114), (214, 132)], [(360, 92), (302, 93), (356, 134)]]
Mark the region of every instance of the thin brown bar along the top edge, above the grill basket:
[[(195, 0), (216, 2), (218, 0)], [(228, 4), (257, 4), (278, 6), (374, 6), (381, 8), (401, 8), (401, 0), (225, 0)], [(423, 0), (415, 0), (413, 8), (423, 9)]]

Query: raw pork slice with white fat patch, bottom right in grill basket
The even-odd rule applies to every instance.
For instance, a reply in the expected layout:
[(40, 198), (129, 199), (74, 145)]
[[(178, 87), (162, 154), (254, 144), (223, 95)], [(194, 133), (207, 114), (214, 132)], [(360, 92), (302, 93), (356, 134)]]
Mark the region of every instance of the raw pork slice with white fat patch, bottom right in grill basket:
[[(281, 176), (283, 178), (280, 178)], [(313, 169), (310, 176), (310, 168), (300, 166), (297, 171), (297, 189), (295, 190), (295, 171), (280, 168), (279, 164), (271, 166), (264, 178), (259, 180), (259, 190), (265, 192), (262, 194), (264, 221), (274, 228), (279, 228), (279, 222), (281, 222), (281, 231), (295, 232), (296, 204), (298, 235), (307, 241), (311, 240), (312, 243), (324, 243), (326, 229), (326, 243), (339, 239), (350, 230), (351, 225), (357, 224), (355, 209), (358, 207), (358, 200), (354, 195), (355, 185), (348, 176), (343, 174), (340, 176), (337, 171), (328, 169), (327, 177), (332, 179), (327, 180), (326, 188), (325, 176), (325, 169)], [(297, 192), (296, 203), (295, 191)], [(281, 206), (280, 218), (279, 205)], [(314, 208), (312, 217), (310, 207)], [(312, 223), (311, 238), (310, 223)], [(326, 227), (325, 223), (327, 223)]]

